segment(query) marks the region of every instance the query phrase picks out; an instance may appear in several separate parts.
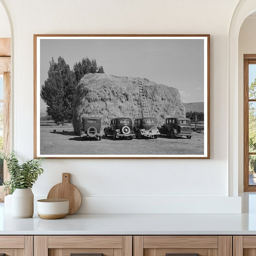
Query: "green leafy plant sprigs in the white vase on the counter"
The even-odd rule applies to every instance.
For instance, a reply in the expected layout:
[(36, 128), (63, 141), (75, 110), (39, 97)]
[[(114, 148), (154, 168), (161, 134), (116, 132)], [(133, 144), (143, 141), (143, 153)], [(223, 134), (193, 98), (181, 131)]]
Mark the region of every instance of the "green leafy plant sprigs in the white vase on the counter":
[(13, 194), (16, 188), (32, 188), (38, 176), (44, 172), (44, 170), (40, 168), (44, 157), (37, 160), (28, 160), (23, 164), (19, 164), (15, 152), (12, 151), (7, 156), (4, 153), (0, 153), (0, 159), (6, 160), (10, 180), (4, 182), (3, 185), (4, 191), (9, 188), (10, 194)]

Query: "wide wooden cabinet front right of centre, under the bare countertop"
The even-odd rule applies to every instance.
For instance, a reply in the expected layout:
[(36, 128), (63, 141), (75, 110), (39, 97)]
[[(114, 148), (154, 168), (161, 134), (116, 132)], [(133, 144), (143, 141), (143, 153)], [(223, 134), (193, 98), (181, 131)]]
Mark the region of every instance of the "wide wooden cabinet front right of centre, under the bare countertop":
[(232, 237), (134, 236), (133, 256), (232, 256)]

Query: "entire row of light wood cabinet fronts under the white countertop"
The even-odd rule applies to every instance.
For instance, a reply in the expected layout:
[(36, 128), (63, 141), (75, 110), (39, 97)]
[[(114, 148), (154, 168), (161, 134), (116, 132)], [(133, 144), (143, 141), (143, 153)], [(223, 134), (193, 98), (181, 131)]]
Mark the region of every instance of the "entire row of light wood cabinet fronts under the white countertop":
[(256, 256), (256, 236), (0, 236), (0, 256)]

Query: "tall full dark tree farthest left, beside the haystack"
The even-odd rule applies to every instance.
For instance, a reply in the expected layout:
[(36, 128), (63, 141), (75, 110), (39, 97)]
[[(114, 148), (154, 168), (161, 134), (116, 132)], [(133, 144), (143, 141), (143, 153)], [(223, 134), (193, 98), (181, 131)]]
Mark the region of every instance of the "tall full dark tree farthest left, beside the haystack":
[(71, 120), (71, 108), (76, 94), (76, 76), (59, 56), (52, 58), (48, 78), (42, 85), (41, 98), (47, 104), (46, 112), (55, 122)]

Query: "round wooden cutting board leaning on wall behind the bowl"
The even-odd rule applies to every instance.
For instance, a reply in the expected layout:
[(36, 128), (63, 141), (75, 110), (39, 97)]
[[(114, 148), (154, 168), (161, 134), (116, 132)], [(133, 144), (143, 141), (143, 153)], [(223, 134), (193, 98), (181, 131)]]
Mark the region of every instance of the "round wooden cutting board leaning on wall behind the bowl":
[(53, 186), (47, 196), (47, 199), (61, 198), (69, 200), (68, 215), (77, 212), (81, 206), (81, 193), (76, 186), (69, 183), (70, 173), (62, 173), (62, 182)]

